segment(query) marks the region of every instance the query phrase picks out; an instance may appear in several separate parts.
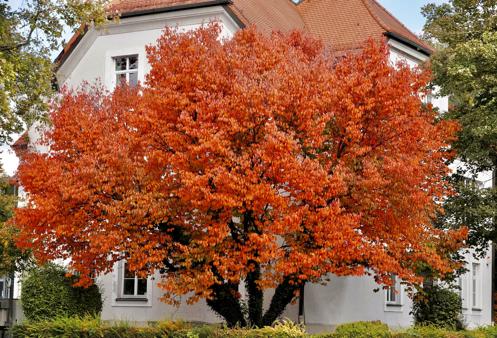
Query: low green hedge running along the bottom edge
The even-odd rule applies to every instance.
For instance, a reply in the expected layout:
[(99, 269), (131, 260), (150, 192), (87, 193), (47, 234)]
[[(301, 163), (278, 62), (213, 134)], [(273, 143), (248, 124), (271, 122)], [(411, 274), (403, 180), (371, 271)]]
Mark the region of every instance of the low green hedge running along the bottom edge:
[(138, 326), (126, 320), (109, 323), (90, 316), (26, 321), (10, 330), (12, 338), (497, 338), (497, 327), (449, 331), (429, 325), (392, 330), (380, 321), (373, 321), (341, 324), (333, 333), (307, 335), (292, 322), (261, 329), (228, 329), (222, 325), (191, 327), (179, 320)]

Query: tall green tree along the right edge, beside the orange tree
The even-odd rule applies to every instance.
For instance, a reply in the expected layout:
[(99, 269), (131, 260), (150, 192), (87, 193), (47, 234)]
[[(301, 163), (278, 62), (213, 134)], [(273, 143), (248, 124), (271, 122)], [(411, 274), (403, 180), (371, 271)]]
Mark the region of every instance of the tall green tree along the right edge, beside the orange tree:
[(432, 86), (449, 96), (454, 110), (445, 119), (462, 124), (453, 143), (465, 162), (449, 181), (457, 194), (444, 200), (445, 214), (438, 227), (469, 228), (467, 243), (485, 256), (489, 241), (497, 241), (492, 217), (497, 216), (497, 192), (482, 189), (473, 178), (497, 166), (497, 1), (451, 0), (422, 8), (426, 17), (423, 37), (438, 42), (431, 58)]

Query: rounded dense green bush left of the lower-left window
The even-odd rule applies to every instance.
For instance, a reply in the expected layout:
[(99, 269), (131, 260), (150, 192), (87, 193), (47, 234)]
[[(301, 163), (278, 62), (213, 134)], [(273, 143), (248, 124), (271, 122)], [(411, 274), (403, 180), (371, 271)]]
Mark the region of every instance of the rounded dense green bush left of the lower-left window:
[(102, 311), (102, 296), (97, 285), (73, 287), (74, 277), (55, 264), (45, 264), (27, 271), (22, 280), (21, 304), (30, 320), (53, 319), (60, 316), (84, 316)]

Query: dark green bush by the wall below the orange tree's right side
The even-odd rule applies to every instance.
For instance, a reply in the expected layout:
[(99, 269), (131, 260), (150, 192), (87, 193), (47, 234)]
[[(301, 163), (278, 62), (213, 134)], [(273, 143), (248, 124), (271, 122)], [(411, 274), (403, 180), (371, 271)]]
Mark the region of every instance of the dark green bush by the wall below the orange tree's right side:
[(462, 299), (457, 293), (439, 285), (424, 287), (420, 292), (424, 299), (414, 302), (413, 311), (410, 312), (413, 314), (414, 324), (464, 330)]

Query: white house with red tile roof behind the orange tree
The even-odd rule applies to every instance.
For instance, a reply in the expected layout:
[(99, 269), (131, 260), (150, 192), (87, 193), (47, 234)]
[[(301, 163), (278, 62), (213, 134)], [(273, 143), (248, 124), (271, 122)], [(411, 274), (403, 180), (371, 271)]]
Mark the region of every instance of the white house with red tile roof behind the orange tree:
[[(84, 35), (75, 34), (56, 59), (59, 84), (76, 87), (83, 80), (100, 78), (112, 90), (123, 77), (130, 82), (143, 81), (150, 70), (145, 46), (156, 42), (163, 27), (173, 25), (189, 30), (211, 19), (222, 22), (222, 35), (226, 37), (252, 23), (267, 31), (305, 26), (340, 55), (359, 49), (368, 36), (384, 35), (391, 44), (391, 60), (404, 58), (413, 67), (433, 53), (432, 47), (376, 0), (113, 0), (109, 11), (120, 14), (121, 24), (108, 27), (108, 34), (88, 28), (84, 28)], [(448, 109), (446, 97), (428, 95), (425, 100), (442, 111)], [(32, 140), (38, 138), (34, 129), (28, 135)], [(25, 145), (22, 140), (14, 143), (14, 147)], [(490, 252), (489, 246), (492, 256)], [(491, 324), (493, 258), (479, 260), (468, 256), (467, 260), (470, 272), (458, 280), (465, 316), (471, 326)], [(113, 272), (100, 277), (105, 298), (102, 319), (125, 316), (147, 321), (172, 313), (192, 322), (219, 321), (203, 302), (179, 308), (159, 302), (162, 291), (153, 280), (125, 278), (125, 268), (121, 262)], [(391, 290), (374, 293), (378, 285), (373, 277), (330, 278), (328, 286), (306, 285), (302, 307), (288, 306), (282, 317), (304, 321), (310, 333), (332, 331), (337, 324), (358, 320), (381, 320), (391, 327), (412, 325), (412, 301), (399, 280), (395, 286), (399, 293), (395, 294)], [(270, 293), (267, 290), (266, 299), (270, 299)]]

